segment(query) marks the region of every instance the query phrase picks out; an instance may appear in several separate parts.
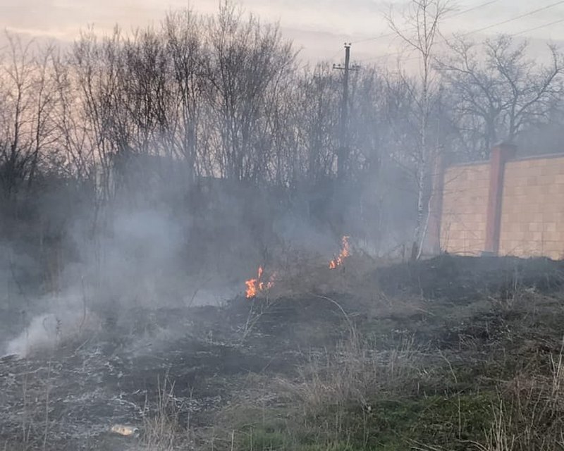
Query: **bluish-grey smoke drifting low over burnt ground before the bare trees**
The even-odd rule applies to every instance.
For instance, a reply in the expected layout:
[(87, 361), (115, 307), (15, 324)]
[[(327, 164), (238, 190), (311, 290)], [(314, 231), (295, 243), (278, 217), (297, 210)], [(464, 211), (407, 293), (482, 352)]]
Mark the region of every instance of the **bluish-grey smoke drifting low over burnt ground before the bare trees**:
[(325, 266), (342, 235), (356, 246), (374, 235), (378, 206), (362, 210), (359, 197), (373, 195), (357, 185), (290, 196), (208, 178), (187, 189), (166, 162), (142, 163), (144, 177), (122, 168), (128, 185), (111, 202), (54, 183), (23, 207), (26, 227), (10, 226), (0, 256), (0, 353), (52, 351), (136, 309), (219, 305), (242, 296), (258, 266)]

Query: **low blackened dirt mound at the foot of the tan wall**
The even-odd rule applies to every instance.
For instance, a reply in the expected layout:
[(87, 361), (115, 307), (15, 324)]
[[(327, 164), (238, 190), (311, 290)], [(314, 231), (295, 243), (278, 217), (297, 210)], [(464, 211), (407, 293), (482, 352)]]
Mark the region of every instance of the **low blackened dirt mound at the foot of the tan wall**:
[(564, 284), (564, 261), (446, 254), (379, 268), (370, 278), (377, 280), (386, 295), (407, 293), (463, 301), (486, 293), (507, 296), (516, 288), (553, 292)]

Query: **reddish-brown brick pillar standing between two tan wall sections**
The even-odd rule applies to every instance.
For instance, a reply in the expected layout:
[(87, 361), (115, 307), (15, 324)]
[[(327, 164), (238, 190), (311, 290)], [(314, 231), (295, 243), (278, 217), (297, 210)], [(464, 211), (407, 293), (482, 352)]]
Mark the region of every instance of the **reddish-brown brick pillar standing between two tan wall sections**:
[(499, 251), (499, 232), (501, 226), (501, 200), (503, 198), (503, 175), (505, 163), (515, 156), (517, 147), (502, 142), (491, 149), (489, 163), (489, 194), (486, 216), (485, 253), (497, 255)]

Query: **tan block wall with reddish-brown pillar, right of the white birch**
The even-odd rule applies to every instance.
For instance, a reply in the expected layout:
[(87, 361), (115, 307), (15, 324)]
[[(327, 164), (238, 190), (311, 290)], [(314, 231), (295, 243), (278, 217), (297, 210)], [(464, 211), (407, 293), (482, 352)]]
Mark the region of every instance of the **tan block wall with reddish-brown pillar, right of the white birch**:
[(564, 259), (564, 155), (500, 159), (508, 149), (439, 174), (441, 250)]

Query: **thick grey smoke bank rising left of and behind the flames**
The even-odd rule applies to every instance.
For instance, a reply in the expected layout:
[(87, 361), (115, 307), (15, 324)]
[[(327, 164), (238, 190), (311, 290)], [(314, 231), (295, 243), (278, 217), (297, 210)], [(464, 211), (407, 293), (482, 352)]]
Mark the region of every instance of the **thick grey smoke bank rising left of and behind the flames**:
[[(178, 194), (170, 186), (152, 190), (161, 199)], [(259, 265), (299, 265), (302, 258), (324, 264), (338, 251), (330, 221), (308, 218), (307, 199), (276, 208), (276, 196), (247, 190), (218, 187), (207, 196), (204, 212), (194, 214), (171, 209), (170, 200), (93, 211), (44, 194), (39, 223), (60, 240), (27, 242), (16, 234), (4, 242), (1, 304), (11, 325), (0, 335), (0, 354), (53, 352), (135, 309), (219, 305), (242, 295)], [(350, 218), (346, 227), (359, 229)]]

